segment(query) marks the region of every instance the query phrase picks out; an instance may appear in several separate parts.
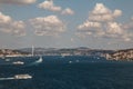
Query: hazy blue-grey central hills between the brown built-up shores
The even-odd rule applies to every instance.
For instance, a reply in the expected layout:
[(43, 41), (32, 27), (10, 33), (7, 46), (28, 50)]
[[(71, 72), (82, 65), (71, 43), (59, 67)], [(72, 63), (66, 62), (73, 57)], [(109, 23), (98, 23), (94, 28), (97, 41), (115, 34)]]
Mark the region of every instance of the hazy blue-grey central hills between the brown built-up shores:
[[(19, 49), (23, 52), (31, 53), (32, 48), (24, 48)], [(85, 47), (79, 47), (79, 48), (34, 48), (34, 55), (43, 55), (43, 56), (102, 56), (104, 53), (111, 53), (112, 50), (102, 50), (102, 49), (90, 49)]]

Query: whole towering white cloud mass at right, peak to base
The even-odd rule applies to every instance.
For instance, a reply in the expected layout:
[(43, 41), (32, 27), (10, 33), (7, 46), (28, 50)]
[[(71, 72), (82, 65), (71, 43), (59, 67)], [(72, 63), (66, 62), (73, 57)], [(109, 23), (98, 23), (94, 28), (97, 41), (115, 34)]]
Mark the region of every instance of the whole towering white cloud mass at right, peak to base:
[(122, 11), (114, 11), (106, 8), (103, 3), (96, 3), (94, 9), (90, 11), (89, 19), (78, 27), (79, 36), (102, 37), (110, 39), (122, 39), (130, 41), (132, 33), (129, 32), (127, 26), (116, 22), (116, 18), (122, 16)]

